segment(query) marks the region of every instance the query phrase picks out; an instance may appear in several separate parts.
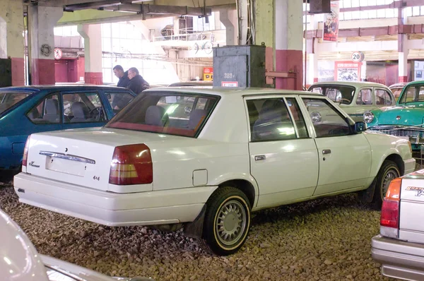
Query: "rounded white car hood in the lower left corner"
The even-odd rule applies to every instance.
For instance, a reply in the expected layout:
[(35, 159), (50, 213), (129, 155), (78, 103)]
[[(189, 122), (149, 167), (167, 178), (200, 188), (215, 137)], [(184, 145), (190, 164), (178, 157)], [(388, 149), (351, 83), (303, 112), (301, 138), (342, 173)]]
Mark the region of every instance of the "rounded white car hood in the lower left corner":
[(0, 276), (1, 280), (48, 280), (45, 265), (30, 239), (0, 210)]

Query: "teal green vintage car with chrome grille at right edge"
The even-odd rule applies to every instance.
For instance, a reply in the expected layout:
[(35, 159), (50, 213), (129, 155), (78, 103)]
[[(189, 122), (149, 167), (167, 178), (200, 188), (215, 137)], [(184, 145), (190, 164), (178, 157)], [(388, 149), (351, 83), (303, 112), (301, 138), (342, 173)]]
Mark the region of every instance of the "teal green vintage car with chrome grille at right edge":
[(367, 130), (399, 136), (411, 142), (414, 150), (424, 144), (424, 81), (408, 83), (394, 107), (365, 112)]

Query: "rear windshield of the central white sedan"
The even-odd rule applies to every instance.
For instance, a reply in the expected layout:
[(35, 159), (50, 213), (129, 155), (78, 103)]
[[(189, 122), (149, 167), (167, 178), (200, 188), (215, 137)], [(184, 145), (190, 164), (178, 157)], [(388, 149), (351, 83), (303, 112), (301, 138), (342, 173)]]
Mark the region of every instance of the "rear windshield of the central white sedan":
[(107, 128), (196, 137), (219, 97), (182, 92), (143, 92)]

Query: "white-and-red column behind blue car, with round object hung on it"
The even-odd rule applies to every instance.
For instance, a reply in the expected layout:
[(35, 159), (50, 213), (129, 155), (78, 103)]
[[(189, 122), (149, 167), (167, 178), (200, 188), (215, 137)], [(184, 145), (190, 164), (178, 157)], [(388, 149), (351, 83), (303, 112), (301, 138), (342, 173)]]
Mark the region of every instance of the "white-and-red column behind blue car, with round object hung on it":
[(63, 16), (61, 7), (28, 6), (30, 84), (53, 85), (54, 25)]

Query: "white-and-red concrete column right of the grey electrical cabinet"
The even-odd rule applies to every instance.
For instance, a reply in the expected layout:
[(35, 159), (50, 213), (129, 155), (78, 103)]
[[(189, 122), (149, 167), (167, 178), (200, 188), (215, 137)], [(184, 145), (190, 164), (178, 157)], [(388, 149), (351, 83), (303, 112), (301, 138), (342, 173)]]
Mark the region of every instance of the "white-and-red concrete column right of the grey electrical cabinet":
[(296, 79), (276, 78), (277, 89), (302, 90), (302, 1), (275, 0), (276, 71), (296, 73)]

